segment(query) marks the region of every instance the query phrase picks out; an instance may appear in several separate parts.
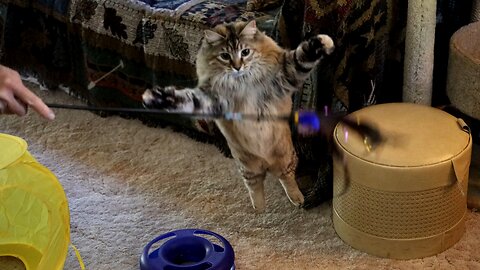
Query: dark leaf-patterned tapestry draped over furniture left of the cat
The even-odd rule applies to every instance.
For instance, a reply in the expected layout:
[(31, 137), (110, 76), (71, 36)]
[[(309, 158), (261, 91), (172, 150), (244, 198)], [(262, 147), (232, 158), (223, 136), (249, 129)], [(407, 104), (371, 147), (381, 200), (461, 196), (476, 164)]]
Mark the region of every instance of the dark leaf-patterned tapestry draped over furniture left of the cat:
[[(153, 84), (194, 85), (203, 29), (256, 18), (271, 32), (275, 16), (246, 11), (246, 0), (1, 2), (8, 9), (4, 63), (49, 85), (69, 85), (73, 94), (102, 106), (138, 107)], [(120, 62), (124, 68), (86, 89)]]

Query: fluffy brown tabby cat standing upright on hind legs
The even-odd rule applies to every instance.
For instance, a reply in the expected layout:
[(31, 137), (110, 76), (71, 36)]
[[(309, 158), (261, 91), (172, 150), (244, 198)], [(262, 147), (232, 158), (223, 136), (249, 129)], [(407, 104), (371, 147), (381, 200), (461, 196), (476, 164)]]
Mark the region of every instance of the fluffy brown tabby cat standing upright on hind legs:
[[(205, 31), (196, 61), (198, 86), (155, 86), (143, 94), (144, 106), (193, 113), (289, 114), (292, 94), (302, 87), (320, 59), (333, 50), (333, 41), (327, 35), (303, 41), (295, 50), (284, 50), (260, 32), (255, 21), (219, 25)], [(297, 156), (287, 122), (215, 122), (257, 211), (265, 208), (263, 181), (267, 172), (278, 177), (294, 205), (303, 204), (295, 181)]]

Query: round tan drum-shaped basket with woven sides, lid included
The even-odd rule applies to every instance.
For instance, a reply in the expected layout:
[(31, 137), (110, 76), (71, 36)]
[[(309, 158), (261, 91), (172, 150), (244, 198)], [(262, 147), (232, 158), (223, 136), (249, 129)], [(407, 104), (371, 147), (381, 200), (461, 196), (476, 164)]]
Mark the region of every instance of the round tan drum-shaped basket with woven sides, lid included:
[[(338, 235), (380, 257), (434, 255), (463, 235), (471, 136), (463, 121), (431, 107), (371, 106), (352, 117), (376, 125), (373, 151), (341, 124), (334, 133), (333, 221)], [(345, 164), (345, 166), (344, 166)]]

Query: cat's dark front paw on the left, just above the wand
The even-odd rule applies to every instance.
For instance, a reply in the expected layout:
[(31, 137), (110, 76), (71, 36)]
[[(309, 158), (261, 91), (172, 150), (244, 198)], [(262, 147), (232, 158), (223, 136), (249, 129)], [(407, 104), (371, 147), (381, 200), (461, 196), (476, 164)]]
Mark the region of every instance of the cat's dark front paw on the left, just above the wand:
[(143, 106), (149, 109), (175, 110), (181, 97), (175, 95), (175, 87), (154, 86), (142, 94)]

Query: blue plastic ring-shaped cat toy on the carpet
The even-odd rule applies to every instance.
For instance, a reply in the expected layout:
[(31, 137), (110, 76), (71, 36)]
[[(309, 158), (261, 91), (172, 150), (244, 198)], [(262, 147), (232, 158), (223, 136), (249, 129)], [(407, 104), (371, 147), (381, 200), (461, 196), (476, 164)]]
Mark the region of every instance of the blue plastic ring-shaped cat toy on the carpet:
[[(213, 236), (218, 241), (212, 243), (205, 236)], [(152, 245), (167, 238), (159, 248), (150, 252)], [(233, 248), (222, 236), (201, 229), (183, 229), (160, 235), (148, 243), (140, 257), (140, 269), (234, 270), (234, 261)]]

